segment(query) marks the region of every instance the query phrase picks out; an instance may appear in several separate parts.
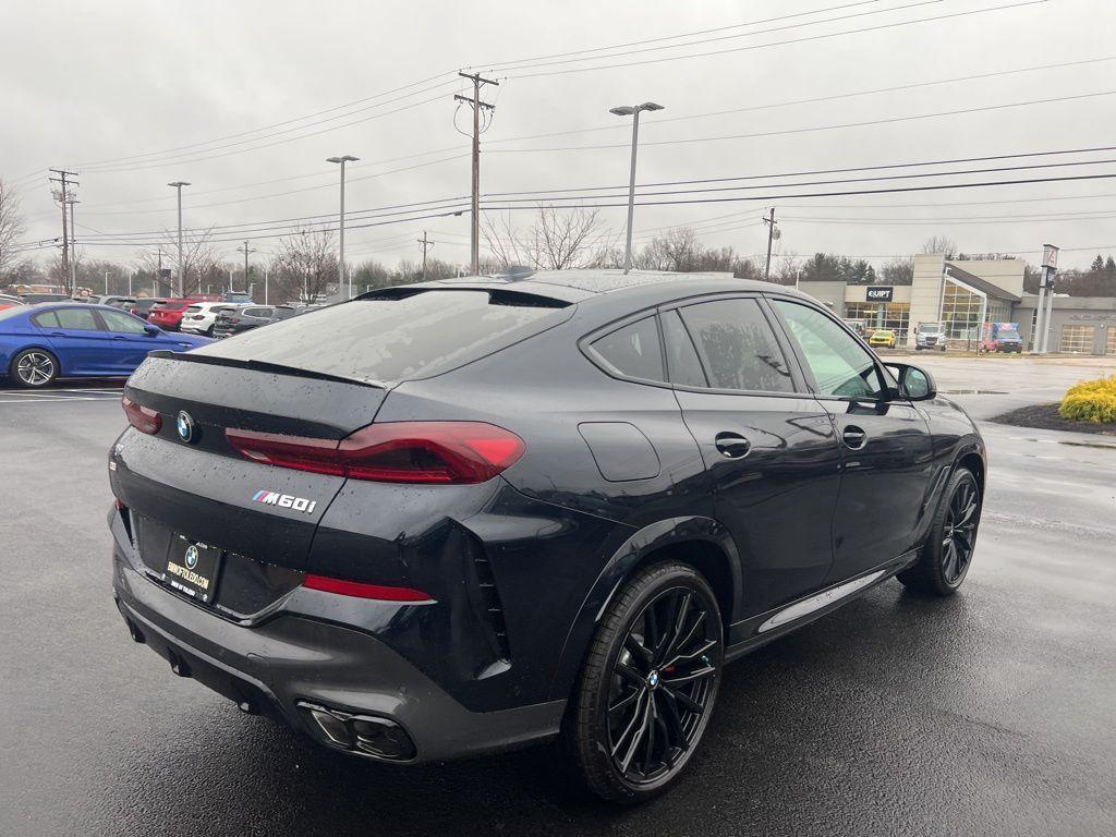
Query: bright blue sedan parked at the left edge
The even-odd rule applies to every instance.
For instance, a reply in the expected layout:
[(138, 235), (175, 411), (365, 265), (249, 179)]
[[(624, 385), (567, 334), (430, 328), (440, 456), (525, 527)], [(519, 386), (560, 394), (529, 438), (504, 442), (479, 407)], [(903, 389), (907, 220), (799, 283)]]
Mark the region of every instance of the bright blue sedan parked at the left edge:
[(185, 352), (206, 337), (167, 334), (107, 305), (44, 302), (0, 310), (0, 375), (49, 386), (59, 377), (131, 375), (150, 352)]

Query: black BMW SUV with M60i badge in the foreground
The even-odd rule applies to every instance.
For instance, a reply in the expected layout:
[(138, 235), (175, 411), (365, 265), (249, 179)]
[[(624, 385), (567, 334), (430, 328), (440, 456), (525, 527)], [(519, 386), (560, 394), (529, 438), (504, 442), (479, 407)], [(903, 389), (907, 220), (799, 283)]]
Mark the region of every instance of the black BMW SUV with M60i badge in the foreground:
[(712, 276), (388, 288), (124, 395), (116, 603), (175, 674), (385, 762), (561, 735), (617, 801), (683, 771), (727, 662), (956, 590), (985, 474), (929, 374)]

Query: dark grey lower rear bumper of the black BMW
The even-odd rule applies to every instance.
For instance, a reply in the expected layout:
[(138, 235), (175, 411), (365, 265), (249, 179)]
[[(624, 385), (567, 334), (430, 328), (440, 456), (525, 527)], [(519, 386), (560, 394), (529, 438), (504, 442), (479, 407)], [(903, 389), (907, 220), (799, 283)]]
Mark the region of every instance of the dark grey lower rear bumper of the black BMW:
[(118, 541), (113, 587), (133, 638), (169, 661), (175, 674), (193, 677), (244, 711), (281, 720), (335, 749), (344, 748), (323, 734), (300, 704), (393, 721), (414, 743), (414, 756), (404, 760), (408, 763), (546, 740), (557, 734), (565, 711), (565, 701), (469, 711), (374, 636), (329, 622), (329, 594), (299, 589), (294, 595), (304, 597), (299, 607), (304, 613), (280, 612), (256, 626), (243, 626), (151, 580)]

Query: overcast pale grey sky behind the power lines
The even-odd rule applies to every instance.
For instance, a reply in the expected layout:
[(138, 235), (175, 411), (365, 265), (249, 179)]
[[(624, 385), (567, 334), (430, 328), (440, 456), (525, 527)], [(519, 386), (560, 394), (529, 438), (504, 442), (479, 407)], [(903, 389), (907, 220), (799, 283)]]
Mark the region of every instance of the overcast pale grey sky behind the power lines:
[[(775, 205), (782, 219), (778, 249), (783, 253), (825, 250), (873, 257), (878, 263), (883, 257), (917, 251), (932, 234), (945, 234), (965, 251), (1030, 251), (1021, 254), (1032, 260), (1041, 243), (1050, 241), (1066, 249), (1062, 266), (1084, 266), (1098, 249), (1116, 252), (1116, 212), (1110, 211), (1116, 179), (782, 196), (1116, 174), (1116, 164), (1095, 163), (797, 190), (785, 185), (796, 180), (788, 173), (811, 170), (1116, 145), (1116, 95), (1090, 95), (1116, 93), (1116, 60), (1097, 60), (1116, 59), (1116, 3), (1049, 0), (964, 13), (1014, 2), (4, 0), (0, 175), (21, 187), (27, 240), (58, 234), (45, 174), (47, 166), (58, 165), (80, 172), (79, 239), (96, 230), (131, 242), (137, 232), (173, 227), (173, 192), (165, 185), (172, 180), (193, 184), (185, 190), (187, 227), (330, 213), (337, 205), (337, 171), (325, 157), (344, 153), (362, 158), (349, 169), (352, 211), (460, 198), (469, 193), (469, 142), (454, 129), (452, 95), (462, 86), (449, 71), (494, 67), (491, 75), (500, 87), (485, 89), (497, 110), (482, 145), (484, 192), (625, 184), (631, 122), (609, 115), (608, 108), (653, 99), (666, 110), (645, 115), (641, 124), (638, 181), (779, 175), (706, 184), (767, 184), (762, 189), (672, 200), (780, 195)], [(942, 16), (951, 17), (889, 26)], [(769, 22), (725, 29), (761, 20)], [(850, 31), (865, 29), (869, 31)], [(716, 31), (681, 39), (691, 46), (657, 40), (700, 30)], [(647, 40), (610, 52), (543, 58)], [(763, 46), (778, 41), (796, 42)], [(719, 54), (658, 60), (713, 51)], [(526, 58), (537, 60), (497, 66)], [(845, 96), (1068, 62), (1078, 64)], [(599, 68), (609, 64), (628, 66)], [(339, 107), (440, 73), (446, 75)], [(786, 105), (833, 96), (840, 98)], [(1002, 107), (1033, 100), (1048, 102)], [(398, 109), (404, 106), (410, 107)], [(329, 108), (337, 109), (320, 113)], [(698, 116), (724, 110), (734, 113)], [(955, 110), (973, 112), (903, 118)], [(300, 118), (310, 114), (318, 115)], [(464, 128), (464, 109), (458, 119)], [(891, 122), (802, 131), (884, 119)], [(516, 138), (551, 132), (578, 133)], [(732, 138), (708, 138), (716, 136)], [(690, 142), (671, 142), (677, 140)], [(555, 150), (585, 145), (614, 147)], [(1116, 152), (953, 167), (1083, 160), (1116, 160)], [(299, 191), (277, 195), (292, 190)], [(694, 224), (709, 244), (761, 253), (766, 231), (759, 217), (769, 205), (637, 208), (637, 241), (656, 229)], [(517, 219), (526, 222), (528, 214)], [(604, 210), (604, 218), (619, 231), (624, 210)], [(415, 258), (414, 240), (423, 229), (439, 242), (435, 256), (468, 261), (468, 215), (356, 229), (358, 223), (347, 238), (350, 261)], [(219, 238), (234, 234), (221, 232)], [(221, 244), (230, 259), (237, 258), (235, 247), (234, 241)], [(254, 240), (252, 247), (266, 256), (276, 240)], [(135, 252), (131, 244), (85, 247), (92, 258), (131, 260)]]

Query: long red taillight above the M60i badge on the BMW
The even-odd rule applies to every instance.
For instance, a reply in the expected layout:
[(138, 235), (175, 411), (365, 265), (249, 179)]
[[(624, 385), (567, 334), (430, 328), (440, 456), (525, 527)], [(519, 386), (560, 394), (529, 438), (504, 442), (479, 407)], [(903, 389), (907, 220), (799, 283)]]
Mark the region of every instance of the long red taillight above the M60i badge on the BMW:
[(247, 430), (225, 431), (249, 459), (280, 468), (375, 482), (434, 484), (490, 480), (523, 455), (523, 440), (483, 422), (387, 422), (340, 442)]

